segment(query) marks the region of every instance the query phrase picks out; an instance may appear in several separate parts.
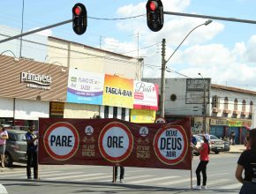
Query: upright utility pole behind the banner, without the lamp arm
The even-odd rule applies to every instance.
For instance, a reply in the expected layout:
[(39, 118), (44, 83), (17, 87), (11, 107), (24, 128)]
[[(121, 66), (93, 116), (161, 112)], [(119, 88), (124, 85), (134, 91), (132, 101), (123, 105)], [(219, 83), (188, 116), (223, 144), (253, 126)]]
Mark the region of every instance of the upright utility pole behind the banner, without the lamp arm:
[(165, 39), (162, 39), (162, 76), (161, 76), (161, 99), (160, 99), (160, 116), (164, 117), (164, 94), (165, 94)]

